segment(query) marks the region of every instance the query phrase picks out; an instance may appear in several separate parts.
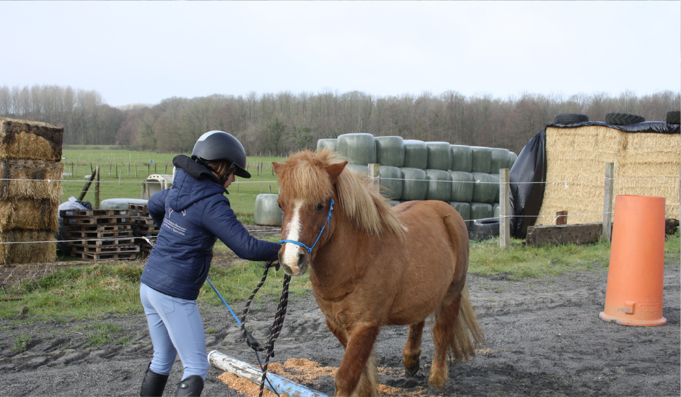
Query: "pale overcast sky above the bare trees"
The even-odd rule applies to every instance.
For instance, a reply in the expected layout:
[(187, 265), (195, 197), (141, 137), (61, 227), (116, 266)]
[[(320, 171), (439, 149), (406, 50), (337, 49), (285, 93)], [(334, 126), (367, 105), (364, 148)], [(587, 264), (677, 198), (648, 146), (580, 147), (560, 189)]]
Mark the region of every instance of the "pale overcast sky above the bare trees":
[(680, 1), (0, 1), (0, 86), (221, 93), (681, 89)]

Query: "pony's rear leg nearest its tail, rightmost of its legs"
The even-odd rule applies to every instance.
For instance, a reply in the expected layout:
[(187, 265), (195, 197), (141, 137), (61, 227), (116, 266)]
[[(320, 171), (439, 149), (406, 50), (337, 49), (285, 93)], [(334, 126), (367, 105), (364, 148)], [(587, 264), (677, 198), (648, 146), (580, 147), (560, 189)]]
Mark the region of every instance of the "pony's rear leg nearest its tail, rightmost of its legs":
[(428, 377), (428, 392), (430, 394), (442, 394), (445, 383), (449, 378), (447, 367), (447, 353), (454, 339), (454, 324), (459, 314), (461, 295), (454, 300), (443, 303), (435, 311), (435, 326), (432, 328), (432, 339), (435, 347), (430, 377)]

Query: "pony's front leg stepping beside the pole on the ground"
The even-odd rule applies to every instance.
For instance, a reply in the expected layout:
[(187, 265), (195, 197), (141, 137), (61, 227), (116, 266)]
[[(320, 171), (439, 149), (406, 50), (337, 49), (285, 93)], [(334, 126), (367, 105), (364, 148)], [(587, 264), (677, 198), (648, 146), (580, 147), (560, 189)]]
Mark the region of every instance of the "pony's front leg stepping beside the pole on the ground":
[(336, 372), (336, 396), (378, 395), (373, 348), (379, 330), (378, 325), (364, 324), (355, 325), (349, 332), (345, 355)]

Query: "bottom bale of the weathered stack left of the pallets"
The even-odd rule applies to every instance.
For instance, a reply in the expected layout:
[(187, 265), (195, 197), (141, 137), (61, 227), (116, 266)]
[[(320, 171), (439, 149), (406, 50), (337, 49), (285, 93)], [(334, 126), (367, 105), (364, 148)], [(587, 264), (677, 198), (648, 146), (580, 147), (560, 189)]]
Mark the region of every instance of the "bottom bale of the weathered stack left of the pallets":
[(57, 239), (54, 238), (54, 232), (47, 230), (8, 230), (0, 233), (0, 243), (5, 242), (23, 243), (0, 244), (0, 265), (44, 264), (53, 262), (57, 257)]

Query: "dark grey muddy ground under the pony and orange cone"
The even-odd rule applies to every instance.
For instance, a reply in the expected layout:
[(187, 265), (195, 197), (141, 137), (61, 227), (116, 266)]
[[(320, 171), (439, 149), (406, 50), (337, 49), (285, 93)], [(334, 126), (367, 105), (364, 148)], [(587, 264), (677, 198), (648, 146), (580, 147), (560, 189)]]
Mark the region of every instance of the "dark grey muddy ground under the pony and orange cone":
[[(217, 257), (218, 266), (233, 258)], [(446, 396), (679, 396), (681, 394), (679, 255), (667, 255), (663, 315), (667, 325), (625, 327), (599, 319), (603, 310), (607, 270), (565, 274), (545, 279), (509, 279), (469, 275), (473, 306), (486, 336), (485, 349), (464, 364), (452, 364)], [(36, 270), (39, 272), (41, 270)], [(31, 274), (31, 271), (28, 272)], [(246, 298), (246, 297), (244, 297)], [(1, 302), (0, 302), (1, 304)], [(255, 355), (240, 340), (234, 320), (224, 308), (200, 304), (208, 350), (217, 349), (255, 363)], [(274, 306), (249, 317), (249, 328), (264, 340)], [(22, 325), (1, 320), (0, 396), (136, 396), (152, 355), (142, 313), (109, 316), (99, 322), (123, 330), (116, 337), (131, 340), (86, 347), (88, 321), (37, 321)], [(210, 333), (212, 331), (212, 333)], [(18, 338), (27, 349), (15, 350)], [(432, 360), (430, 335), (424, 333), (422, 369), (413, 379), (402, 377), (402, 347), (406, 327), (385, 327), (376, 345), (380, 383), (409, 392), (427, 387)], [(14, 350), (14, 351), (13, 351)], [(326, 328), (311, 296), (292, 297), (272, 362), (306, 358), (338, 366), (343, 349)], [(176, 361), (166, 396), (174, 396), (182, 375)], [(204, 396), (240, 396), (216, 377), (211, 368)], [(331, 377), (319, 377), (308, 387), (333, 394)]]

